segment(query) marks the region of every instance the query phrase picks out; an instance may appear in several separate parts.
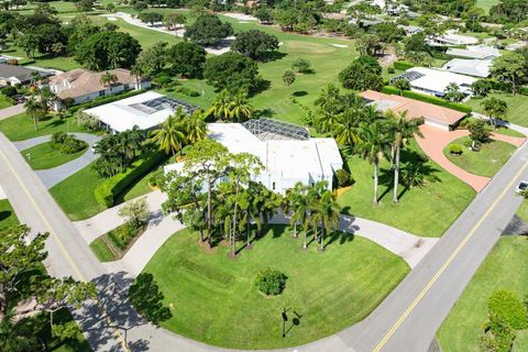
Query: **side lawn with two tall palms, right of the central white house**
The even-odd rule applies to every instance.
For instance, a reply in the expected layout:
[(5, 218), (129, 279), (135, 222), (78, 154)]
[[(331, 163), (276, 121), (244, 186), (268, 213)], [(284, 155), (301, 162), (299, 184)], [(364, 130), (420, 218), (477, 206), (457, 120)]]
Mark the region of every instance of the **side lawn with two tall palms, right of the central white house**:
[[(402, 154), (402, 161), (415, 162), (424, 152), (415, 141)], [(425, 167), (429, 177), (424, 187), (405, 190), (399, 186), (400, 201), (394, 204), (393, 174), (386, 160), (381, 163), (380, 204), (372, 205), (374, 166), (358, 156), (351, 157), (349, 167), (355, 184), (338, 198), (343, 211), (358, 217), (381, 221), (410, 233), (424, 237), (440, 237), (473, 200), (475, 191), (446, 172), (435, 162)]]

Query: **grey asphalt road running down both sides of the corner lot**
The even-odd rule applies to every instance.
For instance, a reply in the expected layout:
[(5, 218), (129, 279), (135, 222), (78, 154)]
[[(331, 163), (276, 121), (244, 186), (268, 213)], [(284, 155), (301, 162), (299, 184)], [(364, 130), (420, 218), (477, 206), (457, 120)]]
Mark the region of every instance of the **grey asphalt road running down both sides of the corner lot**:
[[(527, 161), (525, 144), (364, 321), (295, 350), (427, 351), (441, 322), (522, 201), (514, 195), (514, 187), (520, 178), (528, 178)], [(50, 273), (97, 284), (97, 302), (75, 312), (96, 351), (220, 350), (142, 321), (120, 288), (129, 278), (124, 273), (105, 271), (42, 182), (1, 133), (0, 180), (21, 222), (34, 231), (51, 232), (46, 243), (50, 257), (45, 263)], [(417, 221), (421, 221), (419, 213)]]

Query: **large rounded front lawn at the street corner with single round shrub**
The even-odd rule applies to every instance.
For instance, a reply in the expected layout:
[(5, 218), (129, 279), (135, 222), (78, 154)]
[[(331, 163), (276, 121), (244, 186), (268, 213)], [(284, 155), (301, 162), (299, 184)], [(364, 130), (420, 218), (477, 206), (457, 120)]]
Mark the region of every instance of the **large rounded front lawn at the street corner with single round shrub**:
[[(363, 319), (409, 267), (385, 249), (355, 237), (329, 239), (324, 253), (307, 252), (284, 227), (274, 227), (238, 260), (228, 248), (205, 254), (197, 234), (173, 235), (145, 267), (154, 275), (173, 318), (162, 326), (213, 345), (272, 349), (320, 339)], [(330, 243), (331, 242), (331, 243)], [(267, 267), (288, 276), (282, 295), (266, 298), (255, 285)], [(282, 338), (283, 308), (300, 323)]]

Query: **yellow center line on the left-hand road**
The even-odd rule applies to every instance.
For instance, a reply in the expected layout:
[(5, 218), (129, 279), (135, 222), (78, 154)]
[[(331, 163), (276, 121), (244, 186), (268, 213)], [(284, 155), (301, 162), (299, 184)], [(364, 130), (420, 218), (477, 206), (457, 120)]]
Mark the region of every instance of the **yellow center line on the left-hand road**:
[[(48, 232), (50, 234), (52, 235), (52, 239), (55, 241), (55, 243), (58, 245), (58, 248), (61, 249), (61, 252), (63, 252), (64, 256), (66, 257), (66, 261), (69, 263), (69, 265), (72, 266), (72, 268), (74, 270), (75, 274), (77, 275), (77, 277), (81, 280), (81, 282), (88, 282), (85, 277), (85, 275), (82, 275), (79, 271), (79, 267), (75, 264), (74, 260), (72, 258), (72, 256), (69, 255), (69, 252), (66, 250), (66, 246), (63, 244), (63, 242), (61, 241), (61, 239), (58, 238), (58, 235), (56, 234), (56, 232), (53, 230), (53, 227), (52, 224), (50, 223), (50, 221), (47, 220), (47, 218), (44, 216), (44, 213), (42, 212), (41, 208), (37, 206), (35, 199), (33, 198), (33, 196), (31, 195), (31, 193), (29, 191), (29, 189), (25, 187), (25, 185), (22, 183), (22, 179), (20, 178), (19, 174), (14, 170), (14, 167), (13, 165), (11, 164), (11, 162), (6, 157), (6, 154), (3, 153), (3, 151), (0, 150), (0, 155), (2, 156), (2, 158), (6, 161), (7, 165), (9, 166), (9, 168), (11, 169), (11, 173), (14, 175), (14, 177), (16, 178), (16, 182), (19, 183), (19, 185), (22, 187), (22, 189), (24, 190), (24, 193), (28, 195), (28, 198), (30, 199), (31, 204), (33, 205), (33, 207), (35, 208), (36, 212), (38, 213), (38, 217), (41, 217), (42, 221), (44, 222), (44, 224), (46, 226), (46, 228), (48, 229)], [(102, 317), (105, 318), (105, 320), (107, 321), (107, 323), (112, 328), (113, 330), (113, 333), (118, 337), (118, 339), (120, 340), (120, 343), (121, 345), (123, 346), (124, 351), (130, 351), (129, 350), (129, 346), (127, 345), (127, 342), (124, 341), (124, 338), (123, 336), (121, 334), (121, 332), (118, 330), (118, 328), (116, 327), (116, 324), (113, 323), (113, 321), (110, 319), (110, 317), (108, 316), (107, 314), (107, 310), (105, 309), (105, 307), (102, 306), (102, 304), (100, 302), (100, 300), (98, 298), (95, 298), (94, 301), (96, 302), (97, 307), (99, 308)]]

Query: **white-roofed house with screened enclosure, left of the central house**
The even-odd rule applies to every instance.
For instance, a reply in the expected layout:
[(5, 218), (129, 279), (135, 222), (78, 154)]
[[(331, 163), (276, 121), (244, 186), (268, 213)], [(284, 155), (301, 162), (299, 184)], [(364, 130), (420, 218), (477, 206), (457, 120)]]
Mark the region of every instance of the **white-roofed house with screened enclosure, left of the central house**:
[(85, 112), (98, 119), (105, 129), (116, 133), (132, 130), (134, 125), (141, 130), (151, 130), (163, 123), (178, 107), (186, 113), (198, 109), (190, 103), (147, 91)]

